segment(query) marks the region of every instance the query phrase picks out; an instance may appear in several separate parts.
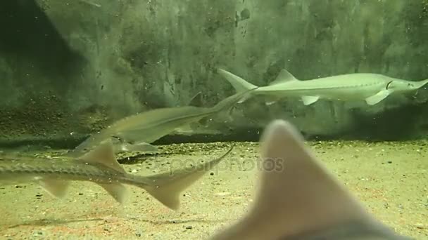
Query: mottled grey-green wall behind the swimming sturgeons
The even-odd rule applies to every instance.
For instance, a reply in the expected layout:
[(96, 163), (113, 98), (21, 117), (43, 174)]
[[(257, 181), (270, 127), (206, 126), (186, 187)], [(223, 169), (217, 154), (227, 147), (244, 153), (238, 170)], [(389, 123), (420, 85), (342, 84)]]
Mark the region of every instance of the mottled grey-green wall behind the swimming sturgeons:
[[(199, 91), (212, 106), (234, 93), (216, 67), (258, 86), (282, 68), (298, 79), (353, 72), (428, 78), (428, 5), (422, 0), (2, 4), (3, 142), (68, 139), (73, 147), (123, 116), (183, 105)], [(427, 133), (427, 100), (426, 89), (374, 107), (303, 106), (296, 98), (265, 106), (254, 98), (237, 105), (232, 119), (213, 118), (208, 128), (257, 131), (280, 117), (308, 135), (414, 138)]]

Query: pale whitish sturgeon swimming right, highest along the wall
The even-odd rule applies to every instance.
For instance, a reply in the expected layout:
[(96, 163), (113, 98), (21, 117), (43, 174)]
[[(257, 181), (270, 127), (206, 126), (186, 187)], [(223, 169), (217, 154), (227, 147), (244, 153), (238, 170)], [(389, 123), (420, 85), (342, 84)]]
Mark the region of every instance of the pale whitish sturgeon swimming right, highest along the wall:
[[(238, 92), (257, 87), (224, 69), (218, 69), (218, 73), (224, 76)], [(286, 69), (282, 69), (277, 79), (269, 86), (258, 87), (250, 95), (264, 95), (267, 105), (284, 97), (299, 97), (304, 105), (311, 105), (320, 99), (364, 100), (367, 105), (376, 105), (392, 93), (415, 91), (425, 84), (428, 84), (428, 79), (407, 81), (370, 73), (341, 74), (301, 81)], [(240, 102), (247, 98), (243, 98)]]

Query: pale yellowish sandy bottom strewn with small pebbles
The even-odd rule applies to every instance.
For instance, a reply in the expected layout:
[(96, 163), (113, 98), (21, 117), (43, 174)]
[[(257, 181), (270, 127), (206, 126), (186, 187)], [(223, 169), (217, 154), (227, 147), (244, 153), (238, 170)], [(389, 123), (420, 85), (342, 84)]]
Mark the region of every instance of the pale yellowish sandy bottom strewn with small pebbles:
[[(130, 159), (120, 155), (120, 159), (127, 171), (149, 175), (221, 156), (230, 145), (168, 145), (161, 147), (161, 154), (130, 155)], [(308, 145), (367, 211), (400, 234), (428, 239), (426, 142)], [(65, 199), (55, 199), (37, 185), (0, 187), (0, 238), (204, 239), (248, 209), (258, 180), (257, 158), (258, 144), (237, 143), (218, 170), (183, 192), (178, 211), (131, 186), (123, 205), (91, 182), (73, 182)]]

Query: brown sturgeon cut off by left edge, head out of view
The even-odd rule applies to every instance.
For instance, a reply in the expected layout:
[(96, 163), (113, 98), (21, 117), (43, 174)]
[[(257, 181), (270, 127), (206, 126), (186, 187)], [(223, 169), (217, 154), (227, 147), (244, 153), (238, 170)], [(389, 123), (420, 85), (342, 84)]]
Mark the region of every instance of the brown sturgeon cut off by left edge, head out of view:
[(177, 209), (180, 192), (210, 171), (226, 154), (193, 168), (139, 176), (126, 173), (114, 158), (111, 141), (106, 140), (79, 159), (0, 156), (0, 184), (38, 182), (53, 196), (63, 197), (70, 181), (89, 181), (106, 189), (119, 203), (124, 201), (124, 185), (133, 185), (145, 189), (168, 208)]

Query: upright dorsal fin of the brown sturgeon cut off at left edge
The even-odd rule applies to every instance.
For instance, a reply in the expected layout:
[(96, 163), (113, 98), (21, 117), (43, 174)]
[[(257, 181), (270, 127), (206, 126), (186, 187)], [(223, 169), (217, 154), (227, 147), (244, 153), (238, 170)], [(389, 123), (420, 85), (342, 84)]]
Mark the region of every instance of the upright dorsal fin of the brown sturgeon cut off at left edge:
[(125, 170), (115, 159), (113, 144), (110, 138), (101, 142), (100, 145), (95, 147), (92, 151), (84, 154), (80, 160), (85, 161), (88, 164), (102, 164), (103, 166), (113, 168), (115, 171), (119, 171), (120, 173), (125, 173)]

